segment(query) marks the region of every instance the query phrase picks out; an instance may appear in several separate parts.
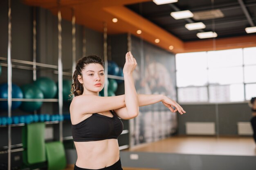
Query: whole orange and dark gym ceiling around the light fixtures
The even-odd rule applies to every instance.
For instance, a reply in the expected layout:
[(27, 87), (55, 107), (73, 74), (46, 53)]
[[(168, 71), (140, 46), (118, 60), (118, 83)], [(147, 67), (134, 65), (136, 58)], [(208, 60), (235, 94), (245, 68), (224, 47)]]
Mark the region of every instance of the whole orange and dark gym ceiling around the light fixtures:
[[(103, 32), (103, 23), (108, 26), (108, 34), (131, 33), (160, 48), (173, 53), (222, 50), (256, 46), (256, 33), (247, 34), (245, 27), (255, 23), (256, 0), (179, 0), (172, 4), (157, 5), (152, 0), (22, 0), (25, 4), (42, 7), (70, 20), (72, 9), (76, 23), (95, 31)], [(242, 6), (248, 10), (249, 24)], [(219, 9), (223, 17), (195, 20), (195, 18), (175, 20), (170, 13), (191, 10), (196, 13)], [(204, 16), (204, 15), (203, 15)], [(118, 22), (113, 23), (112, 18)], [(189, 31), (184, 25), (201, 21), (205, 29)], [(137, 30), (142, 33), (138, 35)], [(216, 39), (199, 39), (198, 32), (215, 31)], [(159, 39), (159, 43), (155, 43)], [(172, 50), (169, 46), (173, 46)]]

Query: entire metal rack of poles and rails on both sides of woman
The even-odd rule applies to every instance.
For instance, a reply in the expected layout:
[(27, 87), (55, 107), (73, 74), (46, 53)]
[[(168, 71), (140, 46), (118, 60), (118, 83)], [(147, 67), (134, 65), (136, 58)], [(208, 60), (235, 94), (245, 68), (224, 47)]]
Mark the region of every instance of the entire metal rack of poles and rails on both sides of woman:
[[(36, 62), (36, 11), (34, 8), (34, 17), (33, 17), (33, 61), (24, 61), (24, 60), (17, 60), (17, 59), (11, 59), (11, 0), (8, 0), (8, 53), (7, 58), (6, 57), (0, 57), (0, 61), (7, 61), (7, 63), (0, 63), (0, 65), (7, 67), (7, 77), (8, 77), (8, 98), (0, 98), (0, 101), (7, 101), (8, 103), (8, 117), (11, 118), (11, 102), (12, 101), (40, 101), (40, 102), (58, 102), (59, 105), (59, 114), (63, 114), (63, 75), (65, 76), (72, 76), (72, 73), (69, 72), (63, 72), (62, 68), (62, 44), (61, 44), (61, 11), (58, 10), (58, 66), (57, 65), (49, 65), (45, 63), (38, 63)], [(76, 66), (76, 44), (75, 44), (75, 16), (74, 16), (74, 10), (72, 9), (72, 70), (74, 72), (75, 66)], [(104, 62), (105, 62), (105, 72), (108, 72), (108, 55), (107, 55), (107, 26), (106, 23), (104, 23)], [(16, 63), (12, 64), (12, 63)], [(20, 65), (23, 64), (23, 65)], [(26, 66), (25, 66), (26, 65)], [(11, 91), (12, 91), (12, 68), (19, 68), (24, 70), (33, 70), (33, 80), (36, 81), (36, 71), (38, 68), (49, 68), (53, 69), (54, 74), (58, 74), (58, 99), (19, 99), (19, 98), (12, 98)], [(124, 77), (121, 76), (114, 76), (114, 75), (108, 75), (106, 74), (105, 80), (108, 78), (118, 79), (118, 80), (124, 80)], [(105, 81), (106, 88), (104, 88), (104, 96), (108, 96), (108, 81)], [(35, 111), (36, 114), (36, 111)], [(63, 122), (62, 121), (49, 121), (45, 122), (45, 124), (59, 124), (59, 139), (61, 142), (63, 140), (70, 140), (72, 139), (72, 136), (63, 137)], [(15, 126), (25, 126), (24, 123), (20, 124), (8, 124), (8, 125), (0, 125), (0, 127), (8, 127), (8, 145), (3, 146), (2, 148), (7, 149), (6, 151), (0, 151), (0, 154), (8, 153), (8, 170), (11, 170), (11, 153), (13, 152), (19, 152), (24, 150), (23, 148), (18, 149), (12, 149), (16, 147), (22, 147), (23, 144), (15, 144), (11, 145), (11, 127)], [(129, 130), (124, 130), (122, 134), (129, 133)], [(129, 145), (120, 146), (119, 149), (125, 149), (128, 148)]]

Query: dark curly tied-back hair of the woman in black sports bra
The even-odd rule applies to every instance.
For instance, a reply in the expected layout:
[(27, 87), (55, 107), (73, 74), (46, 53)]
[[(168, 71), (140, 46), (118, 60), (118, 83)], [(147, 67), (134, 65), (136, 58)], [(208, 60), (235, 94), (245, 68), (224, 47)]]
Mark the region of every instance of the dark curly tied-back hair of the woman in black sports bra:
[(98, 57), (96, 55), (89, 55), (87, 57), (83, 57), (79, 59), (76, 63), (76, 70), (73, 74), (73, 83), (71, 85), (71, 94), (70, 97), (74, 94), (74, 96), (79, 96), (83, 94), (83, 85), (78, 81), (78, 75), (82, 76), (82, 70), (85, 68), (86, 65), (90, 63), (98, 63), (102, 65), (104, 68), (104, 62), (101, 59), (101, 57)]

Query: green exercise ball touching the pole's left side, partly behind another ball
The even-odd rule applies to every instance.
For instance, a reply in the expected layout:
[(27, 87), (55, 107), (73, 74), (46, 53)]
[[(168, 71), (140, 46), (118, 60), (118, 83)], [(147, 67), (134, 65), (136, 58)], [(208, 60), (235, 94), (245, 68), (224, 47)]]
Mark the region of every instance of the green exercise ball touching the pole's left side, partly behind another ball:
[(55, 82), (49, 77), (40, 77), (34, 81), (36, 85), (44, 95), (44, 98), (54, 98), (57, 93), (57, 86)]

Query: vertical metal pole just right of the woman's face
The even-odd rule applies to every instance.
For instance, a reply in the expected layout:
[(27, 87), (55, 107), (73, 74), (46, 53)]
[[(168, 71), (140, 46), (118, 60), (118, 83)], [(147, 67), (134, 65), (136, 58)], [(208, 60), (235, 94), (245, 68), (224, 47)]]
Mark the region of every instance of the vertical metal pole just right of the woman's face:
[(104, 85), (104, 96), (108, 96), (108, 28), (107, 23), (103, 23), (103, 48), (104, 48), (104, 63), (105, 63), (105, 85)]

